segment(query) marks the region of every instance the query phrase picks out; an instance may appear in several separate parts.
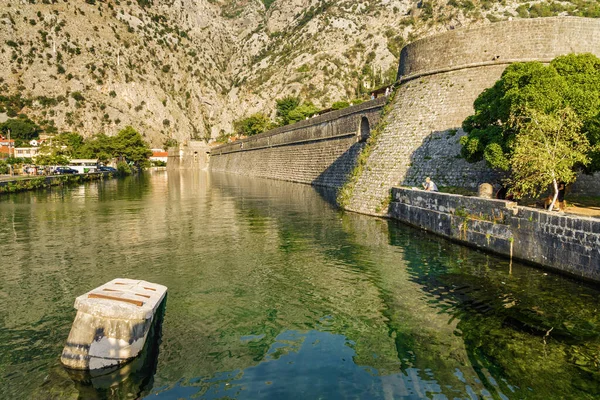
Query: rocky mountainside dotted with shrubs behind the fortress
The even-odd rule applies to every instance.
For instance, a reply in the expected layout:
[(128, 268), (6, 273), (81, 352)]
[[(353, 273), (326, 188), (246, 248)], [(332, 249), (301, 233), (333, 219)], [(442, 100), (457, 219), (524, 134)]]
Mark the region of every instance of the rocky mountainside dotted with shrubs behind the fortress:
[(20, 95), (9, 103), (49, 130), (132, 125), (155, 146), (210, 138), (288, 94), (326, 107), (392, 82), (415, 38), (544, 13), (593, 16), (594, 3), (3, 0), (0, 96)]

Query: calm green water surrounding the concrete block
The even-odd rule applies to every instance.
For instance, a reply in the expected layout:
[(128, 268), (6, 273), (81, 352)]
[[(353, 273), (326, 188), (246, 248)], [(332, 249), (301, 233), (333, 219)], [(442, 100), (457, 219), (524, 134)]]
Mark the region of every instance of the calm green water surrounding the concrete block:
[[(600, 396), (597, 288), (327, 195), (189, 172), (0, 197), (0, 398)], [(168, 286), (158, 349), (69, 375), (73, 301), (115, 277)]]

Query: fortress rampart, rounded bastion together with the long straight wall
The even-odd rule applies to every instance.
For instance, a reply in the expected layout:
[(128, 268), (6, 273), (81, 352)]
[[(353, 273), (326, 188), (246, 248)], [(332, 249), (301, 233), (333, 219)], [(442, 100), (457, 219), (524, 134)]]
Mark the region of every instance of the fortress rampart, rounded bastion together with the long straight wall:
[[(503, 21), (405, 46), (394, 102), (347, 208), (385, 214), (393, 186), (420, 186), (427, 176), (438, 186), (476, 188), (493, 181), (483, 162), (470, 164), (460, 157), (461, 125), (474, 100), (510, 63), (549, 62), (584, 52), (600, 56), (600, 19)], [(385, 98), (376, 99), (217, 147), (211, 150), (210, 168), (339, 188), (384, 103)], [(600, 192), (598, 175), (582, 178), (581, 187)]]

